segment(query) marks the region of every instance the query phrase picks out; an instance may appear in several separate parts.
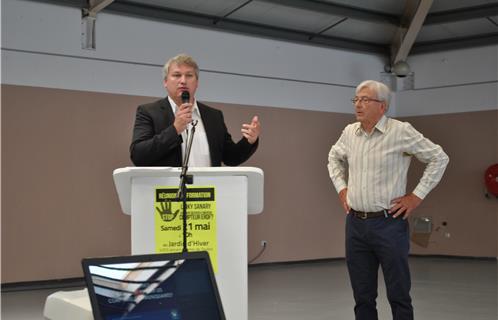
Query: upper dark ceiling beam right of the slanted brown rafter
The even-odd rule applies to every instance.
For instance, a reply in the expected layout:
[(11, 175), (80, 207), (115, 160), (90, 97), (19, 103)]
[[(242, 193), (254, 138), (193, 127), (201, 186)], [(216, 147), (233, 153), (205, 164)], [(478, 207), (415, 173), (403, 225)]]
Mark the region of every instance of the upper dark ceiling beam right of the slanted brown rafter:
[(466, 7), (428, 14), (425, 19), (425, 25), (487, 18), (496, 15), (498, 15), (498, 3), (490, 3), (481, 6)]

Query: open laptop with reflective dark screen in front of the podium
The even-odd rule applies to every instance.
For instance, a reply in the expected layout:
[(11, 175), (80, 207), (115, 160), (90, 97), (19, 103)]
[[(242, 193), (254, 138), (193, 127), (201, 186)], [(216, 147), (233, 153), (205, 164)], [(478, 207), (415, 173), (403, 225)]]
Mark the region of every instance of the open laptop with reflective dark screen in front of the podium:
[(225, 320), (207, 252), (82, 260), (95, 320)]

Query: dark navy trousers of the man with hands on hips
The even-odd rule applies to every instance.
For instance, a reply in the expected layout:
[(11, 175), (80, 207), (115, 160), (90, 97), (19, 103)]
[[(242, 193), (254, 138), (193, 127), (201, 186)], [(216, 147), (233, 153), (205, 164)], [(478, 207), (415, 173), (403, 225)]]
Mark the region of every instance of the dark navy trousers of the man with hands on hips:
[(377, 275), (382, 267), (394, 320), (412, 320), (408, 222), (402, 218), (346, 219), (346, 262), (356, 320), (377, 320)]

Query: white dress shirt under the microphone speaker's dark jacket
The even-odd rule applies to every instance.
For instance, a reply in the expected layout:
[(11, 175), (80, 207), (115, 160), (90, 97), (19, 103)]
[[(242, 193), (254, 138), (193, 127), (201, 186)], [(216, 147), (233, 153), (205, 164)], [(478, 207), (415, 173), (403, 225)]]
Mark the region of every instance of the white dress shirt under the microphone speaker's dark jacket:
[[(176, 114), (178, 106), (168, 96), (169, 103), (173, 109), (173, 114)], [(194, 101), (194, 109), (192, 111), (192, 121), (197, 120), (197, 125), (195, 126), (194, 140), (192, 141), (192, 149), (190, 151), (190, 157), (188, 161), (189, 167), (210, 167), (211, 166), (211, 154), (209, 153), (209, 144), (207, 140), (206, 130), (204, 129), (204, 123), (202, 122), (201, 113), (199, 107), (197, 106), (197, 101)], [(185, 149), (187, 147), (187, 135), (191, 134), (192, 125), (189, 124), (186, 130), (182, 132), (182, 163), (185, 158)]]

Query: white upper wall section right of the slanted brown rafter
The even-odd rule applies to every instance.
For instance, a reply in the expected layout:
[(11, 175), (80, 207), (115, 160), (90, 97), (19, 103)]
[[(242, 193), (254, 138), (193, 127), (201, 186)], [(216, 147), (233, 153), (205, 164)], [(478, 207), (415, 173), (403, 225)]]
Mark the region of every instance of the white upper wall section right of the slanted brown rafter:
[(498, 46), (411, 56), (415, 90), (396, 94), (396, 116), (498, 108)]

